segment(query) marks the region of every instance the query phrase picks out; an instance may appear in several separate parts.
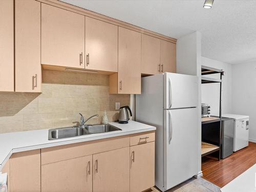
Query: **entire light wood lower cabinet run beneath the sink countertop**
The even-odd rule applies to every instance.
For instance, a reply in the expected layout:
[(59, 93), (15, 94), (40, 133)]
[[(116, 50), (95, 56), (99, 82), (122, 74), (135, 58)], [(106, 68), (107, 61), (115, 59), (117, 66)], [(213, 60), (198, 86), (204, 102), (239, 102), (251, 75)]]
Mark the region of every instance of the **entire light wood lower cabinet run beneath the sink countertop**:
[(155, 185), (155, 133), (14, 153), (3, 172), (11, 192), (144, 191)]

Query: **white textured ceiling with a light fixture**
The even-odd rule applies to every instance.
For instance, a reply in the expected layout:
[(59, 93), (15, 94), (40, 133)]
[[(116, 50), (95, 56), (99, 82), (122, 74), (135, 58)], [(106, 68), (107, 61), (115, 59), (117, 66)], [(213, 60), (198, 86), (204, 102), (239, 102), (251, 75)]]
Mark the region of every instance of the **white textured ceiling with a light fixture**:
[(256, 1), (61, 0), (124, 22), (179, 38), (202, 33), (202, 56), (227, 63), (256, 60)]

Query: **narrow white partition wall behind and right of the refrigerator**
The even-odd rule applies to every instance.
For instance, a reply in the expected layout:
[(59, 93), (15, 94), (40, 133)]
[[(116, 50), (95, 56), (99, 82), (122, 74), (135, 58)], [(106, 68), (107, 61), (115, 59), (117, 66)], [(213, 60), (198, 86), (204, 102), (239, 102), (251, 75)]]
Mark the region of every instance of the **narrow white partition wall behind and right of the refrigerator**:
[(198, 84), (198, 175), (201, 175), (201, 33), (194, 32), (177, 40), (177, 73), (196, 75)]

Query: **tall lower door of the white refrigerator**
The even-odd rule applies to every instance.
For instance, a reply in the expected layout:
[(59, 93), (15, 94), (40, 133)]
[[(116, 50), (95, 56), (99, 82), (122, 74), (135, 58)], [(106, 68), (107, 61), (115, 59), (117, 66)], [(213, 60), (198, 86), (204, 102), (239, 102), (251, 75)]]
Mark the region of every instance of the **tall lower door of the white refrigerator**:
[(198, 108), (164, 110), (164, 187), (198, 173)]

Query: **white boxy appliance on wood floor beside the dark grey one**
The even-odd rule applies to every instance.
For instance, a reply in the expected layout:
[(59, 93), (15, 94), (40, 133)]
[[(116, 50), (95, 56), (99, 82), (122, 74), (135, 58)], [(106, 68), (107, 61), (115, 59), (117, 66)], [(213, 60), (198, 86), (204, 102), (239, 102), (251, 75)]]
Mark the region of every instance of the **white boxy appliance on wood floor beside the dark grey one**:
[(248, 146), (249, 142), (249, 116), (223, 114), (222, 117), (234, 119), (233, 152)]

